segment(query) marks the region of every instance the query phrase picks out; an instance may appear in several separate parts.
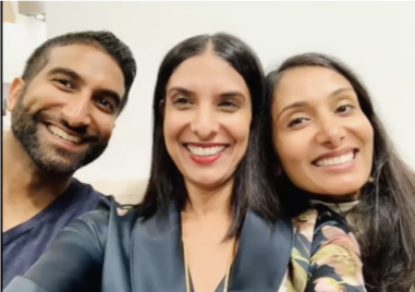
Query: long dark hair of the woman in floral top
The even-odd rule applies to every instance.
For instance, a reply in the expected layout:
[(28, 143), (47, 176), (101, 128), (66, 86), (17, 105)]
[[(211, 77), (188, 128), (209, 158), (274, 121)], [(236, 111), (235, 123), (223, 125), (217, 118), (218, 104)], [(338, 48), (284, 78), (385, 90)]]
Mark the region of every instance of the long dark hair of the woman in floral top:
[[(300, 66), (331, 69), (343, 75), (357, 94), (362, 110), (375, 132), (371, 169), (374, 181), (361, 191), (359, 203), (350, 215), (353, 219), (351, 228), (362, 248), (367, 290), (408, 292), (415, 285), (415, 174), (398, 155), (363, 82), (333, 57), (320, 53), (298, 54), (270, 72), (267, 75), (268, 109), (272, 108), (272, 93), (281, 76)], [(271, 115), (272, 112), (269, 111), (268, 135), (272, 134)], [(267, 143), (270, 147), (272, 142), (268, 139)], [(285, 192), (281, 188), (278, 191)]]

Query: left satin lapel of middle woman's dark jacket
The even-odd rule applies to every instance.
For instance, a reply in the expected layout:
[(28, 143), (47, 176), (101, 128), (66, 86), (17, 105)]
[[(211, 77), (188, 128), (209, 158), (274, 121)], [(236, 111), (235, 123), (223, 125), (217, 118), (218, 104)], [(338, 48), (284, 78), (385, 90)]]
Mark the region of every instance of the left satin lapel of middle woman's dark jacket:
[(131, 255), (134, 292), (185, 291), (180, 212), (174, 205), (168, 216), (137, 221)]

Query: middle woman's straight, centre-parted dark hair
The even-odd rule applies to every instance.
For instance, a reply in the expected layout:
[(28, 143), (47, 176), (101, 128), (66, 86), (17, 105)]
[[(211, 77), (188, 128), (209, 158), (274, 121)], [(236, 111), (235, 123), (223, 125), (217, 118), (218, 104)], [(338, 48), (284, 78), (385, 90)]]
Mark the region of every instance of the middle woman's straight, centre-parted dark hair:
[(148, 219), (158, 211), (166, 214), (168, 205), (175, 203), (179, 208), (187, 199), (184, 180), (164, 144), (163, 111), (166, 86), (174, 70), (188, 58), (212, 52), (232, 65), (244, 78), (252, 99), (251, 135), (246, 154), (234, 173), (231, 197), (233, 222), (229, 235), (234, 235), (242, 226), (249, 207), (269, 221), (277, 219), (279, 202), (272, 196), (270, 179), (263, 168), (266, 156), (260, 147), (263, 134), (265, 74), (254, 51), (239, 38), (228, 34), (198, 35), (185, 39), (172, 48), (161, 62), (154, 94), (152, 114), (152, 162), (149, 184), (142, 203), (143, 216)]

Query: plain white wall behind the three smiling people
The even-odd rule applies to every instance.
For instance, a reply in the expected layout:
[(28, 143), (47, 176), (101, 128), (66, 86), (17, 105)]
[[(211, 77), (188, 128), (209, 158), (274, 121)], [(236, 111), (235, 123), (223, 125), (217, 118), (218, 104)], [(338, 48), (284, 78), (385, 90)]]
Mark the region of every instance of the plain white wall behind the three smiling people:
[(399, 150), (415, 167), (414, 1), (46, 1), (48, 36), (109, 29), (137, 60), (130, 104), (109, 149), (77, 173), (85, 180), (148, 177), (151, 99), (164, 53), (186, 37), (233, 33), (264, 65), (305, 51), (340, 57), (364, 78)]

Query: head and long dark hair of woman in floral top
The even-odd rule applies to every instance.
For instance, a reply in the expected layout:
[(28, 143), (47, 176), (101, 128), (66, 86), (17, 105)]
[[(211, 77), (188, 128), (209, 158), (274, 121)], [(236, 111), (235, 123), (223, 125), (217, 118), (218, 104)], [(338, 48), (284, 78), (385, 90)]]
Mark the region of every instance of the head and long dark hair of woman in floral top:
[[(346, 218), (362, 247), (368, 291), (415, 290), (415, 174), (395, 153), (363, 83), (319, 53), (289, 58), (267, 80), (267, 132), (277, 154), (269, 171), (277, 166), (279, 192)], [(324, 291), (342, 291), (331, 282)]]

